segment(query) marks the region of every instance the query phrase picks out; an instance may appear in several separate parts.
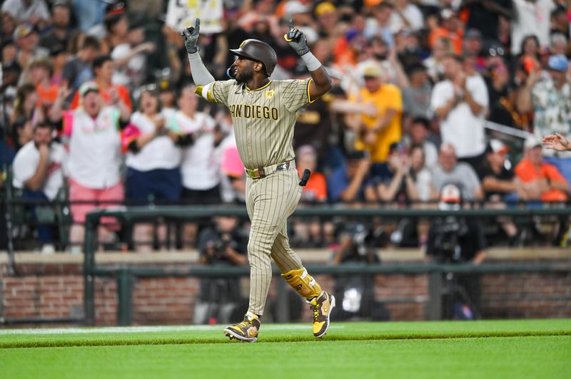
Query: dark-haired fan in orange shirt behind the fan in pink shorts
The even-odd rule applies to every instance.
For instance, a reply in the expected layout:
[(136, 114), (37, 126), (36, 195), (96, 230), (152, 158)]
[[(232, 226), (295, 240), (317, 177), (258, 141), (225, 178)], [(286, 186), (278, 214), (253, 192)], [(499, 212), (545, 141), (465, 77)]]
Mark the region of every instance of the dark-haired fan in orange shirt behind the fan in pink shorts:
[[(133, 110), (131, 103), (131, 95), (129, 90), (124, 85), (114, 85), (111, 83), (113, 77), (113, 60), (110, 56), (98, 56), (93, 63), (93, 71), (95, 75), (94, 82), (99, 88), (103, 103), (109, 103), (113, 98), (113, 91), (117, 92), (118, 98), (123, 100), (128, 110)], [(79, 105), (79, 91), (74, 95), (74, 100), (71, 101), (71, 109), (76, 109)]]

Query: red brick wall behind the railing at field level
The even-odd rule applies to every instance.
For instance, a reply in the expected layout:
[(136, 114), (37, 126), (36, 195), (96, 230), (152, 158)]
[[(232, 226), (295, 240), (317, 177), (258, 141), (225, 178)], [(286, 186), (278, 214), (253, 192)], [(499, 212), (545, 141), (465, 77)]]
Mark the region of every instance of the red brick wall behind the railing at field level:
[[(83, 312), (84, 279), (81, 264), (21, 264), (19, 276), (7, 276), (0, 264), (0, 318), (68, 317)], [(323, 288), (333, 289), (330, 276), (316, 276)], [(274, 278), (269, 294), (277, 294)], [(247, 294), (248, 281), (243, 281)], [(571, 317), (571, 273), (486, 274), (482, 276), (485, 318)], [(96, 324), (116, 325), (116, 280), (97, 278)], [(187, 324), (199, 281), (193, 278), (136, 279), (133, 287), (133, 323)], [(375, 296), (386, 301), (392, 320), (423, 320), (428, 298), (428, 276), (381, 275)], [(406, 302), (406, 299), (416, 301)], [(424, 299), (424, 300), (423, 300)], [(340, 305), (340, 304), (339, 304)], [(303, 305), (303, 321), (311, 319)]]

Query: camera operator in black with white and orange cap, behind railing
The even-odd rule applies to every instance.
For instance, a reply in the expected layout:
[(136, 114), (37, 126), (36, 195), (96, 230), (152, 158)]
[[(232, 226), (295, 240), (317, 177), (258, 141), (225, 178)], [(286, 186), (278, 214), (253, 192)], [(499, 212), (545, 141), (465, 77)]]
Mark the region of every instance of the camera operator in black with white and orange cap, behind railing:
[[(458, 210), (462, 207), (457, 185), (445, 185), (438, 207)], [(485, 259), (485, 237), (475, 219), (438, 217), (428, 232), (426, 255), (445, 264), (481, 264)], [(471, 320), (480, 318), (480, 278), (475, 274), (447, 273), (443, 287), (443, 318)]]

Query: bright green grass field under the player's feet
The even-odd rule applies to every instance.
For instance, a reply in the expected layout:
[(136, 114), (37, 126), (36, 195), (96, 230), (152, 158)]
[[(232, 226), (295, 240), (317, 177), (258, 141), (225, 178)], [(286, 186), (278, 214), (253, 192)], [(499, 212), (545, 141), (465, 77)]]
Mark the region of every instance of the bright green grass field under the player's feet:
[(0, 330), (0, 378), (571, 378), (571, 320)]

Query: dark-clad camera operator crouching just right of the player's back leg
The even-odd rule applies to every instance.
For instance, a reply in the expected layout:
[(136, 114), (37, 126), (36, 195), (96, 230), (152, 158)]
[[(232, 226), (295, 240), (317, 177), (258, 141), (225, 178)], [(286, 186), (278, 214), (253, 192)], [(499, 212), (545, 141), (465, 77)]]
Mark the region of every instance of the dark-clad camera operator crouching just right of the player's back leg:
[[(360, 223), (348, 225), (340, 234), (332, 263), (380, 264), (375, 249), (383, 237), (378, 231), (382, 230), (372, 231)], [(372, 274), (335, 275), (335, 296), (342, 299), (340, 309), (333, 313), (337, 320), (354, 317), (388, 320), (390, 317), (383, 303), (375, 301), (375, 276)]]

